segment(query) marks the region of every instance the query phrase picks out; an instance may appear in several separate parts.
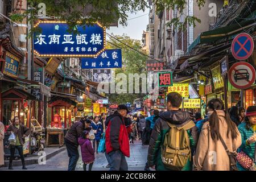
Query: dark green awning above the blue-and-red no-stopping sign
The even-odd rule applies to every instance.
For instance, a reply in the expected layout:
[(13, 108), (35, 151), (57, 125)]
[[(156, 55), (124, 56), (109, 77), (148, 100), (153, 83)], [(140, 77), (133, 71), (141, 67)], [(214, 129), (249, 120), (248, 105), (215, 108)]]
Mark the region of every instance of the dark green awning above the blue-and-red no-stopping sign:
[(195, 48), (199, 44), (205, 43), (213, 43), (217, 40), (226, 38), (228, 36), (237, 35), (240, 32), (244, 31), (245, 28), (249, 28), (251, 26), (256, 26), (255, 20), (247, 20), (238, 23), (234, 23), (230, 26), (216, 28), (214, 30), (202, 32), (196, 40), (188, 47), (188, 51), (190, 52), (193, 48)]

